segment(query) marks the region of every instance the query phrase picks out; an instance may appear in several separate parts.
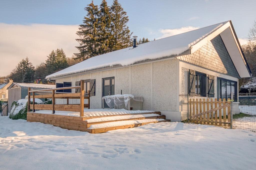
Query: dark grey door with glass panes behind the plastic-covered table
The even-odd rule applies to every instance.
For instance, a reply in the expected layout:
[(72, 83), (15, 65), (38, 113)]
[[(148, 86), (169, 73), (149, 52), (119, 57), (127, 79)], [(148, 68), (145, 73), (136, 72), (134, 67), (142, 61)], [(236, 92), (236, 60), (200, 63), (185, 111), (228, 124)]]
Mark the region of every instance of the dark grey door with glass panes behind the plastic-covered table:
[[(114, 95), (115, 94), (115, 78), (103, 78), (103, 96)], [(109, 108), (104, 100), (104, 108)]]

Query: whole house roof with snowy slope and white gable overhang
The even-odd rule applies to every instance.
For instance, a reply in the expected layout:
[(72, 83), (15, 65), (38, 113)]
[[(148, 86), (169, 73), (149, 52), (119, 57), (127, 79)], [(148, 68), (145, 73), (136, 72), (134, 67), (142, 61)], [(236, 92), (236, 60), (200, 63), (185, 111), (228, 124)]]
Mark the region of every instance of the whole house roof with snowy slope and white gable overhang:
[(241, 46), (234, 32), (231, 21), (221, 22), (208, 27), (182, 34), (128, 47), (84, 60), (65, 68), (46, 79), (73, 76), (85, 72), (129, 66), (152, 60), (188, 55), (220, 34), (240, 77), (250, 77), (251, 71), (243, 55)]

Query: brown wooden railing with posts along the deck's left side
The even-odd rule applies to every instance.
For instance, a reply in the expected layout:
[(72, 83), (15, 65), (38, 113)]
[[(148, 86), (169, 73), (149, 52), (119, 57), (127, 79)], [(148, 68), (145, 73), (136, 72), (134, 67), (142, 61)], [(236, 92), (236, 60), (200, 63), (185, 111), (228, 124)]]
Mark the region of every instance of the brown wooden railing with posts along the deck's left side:
[[(55, 111), (73, 111), (80, 112), (80, 117), (83, 117), (84, 107), (87, 107), (88, 109), (90, 108), (90, 91), (88, 91), (88, 93), (84, 93), (84, 80), (81, 80), (80, 84), (81, 86), (32, 91), (30, 91), (30, 88), (28, 88), (28, 112), (30, 112), (30, 109), (32, 109), (33, 112), (35, 112), (35, 110), (52, 110), (52, 114), (54, 114)], [(56, 92), (56, 90), (76, 88), (80, 88), (80, 93)], [(35, 95), (35, 93), (45, 94)], [(87, 94), (87, 96), (84, 96), (84, 94)], [(33, 99), (32, 104), (30, 104), (31, 98)], [(52, 104), (35, 104), (35, 98), (52, 99)], [(55, 104), (55, 99), (67, 99), (67, 104)], [(69, 104), (69, 99), (80, 99), (80, 104)], [(88, 104), (84, 104), (84, 99), (88, 99)]]

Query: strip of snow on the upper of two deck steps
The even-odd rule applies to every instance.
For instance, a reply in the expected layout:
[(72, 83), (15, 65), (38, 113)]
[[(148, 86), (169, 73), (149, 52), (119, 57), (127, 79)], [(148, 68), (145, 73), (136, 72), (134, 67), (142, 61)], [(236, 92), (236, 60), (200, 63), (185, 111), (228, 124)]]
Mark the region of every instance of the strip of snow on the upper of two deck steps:
[(138, 114), (138, 115), (124, 115), (124, 116), (108, 116), (108, 117), (98, 117), (86, 120), (88, 123), (93, 122), (104, 122), (104, 121), (111, 121), (111, 120), (123, 120), (123, 119), (135, 119), (135, 118), (142, 118), (142, 117), (153, 117), (159, 116), (158, 114)]

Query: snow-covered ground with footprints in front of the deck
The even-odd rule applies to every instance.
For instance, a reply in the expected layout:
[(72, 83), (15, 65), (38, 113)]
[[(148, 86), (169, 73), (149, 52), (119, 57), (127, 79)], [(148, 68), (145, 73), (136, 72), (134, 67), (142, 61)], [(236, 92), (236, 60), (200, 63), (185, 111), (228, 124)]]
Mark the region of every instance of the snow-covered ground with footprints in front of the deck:
[(0, 169), (255, 169), (256, 133), (165, 122), (100, 134), (0, 117)]

